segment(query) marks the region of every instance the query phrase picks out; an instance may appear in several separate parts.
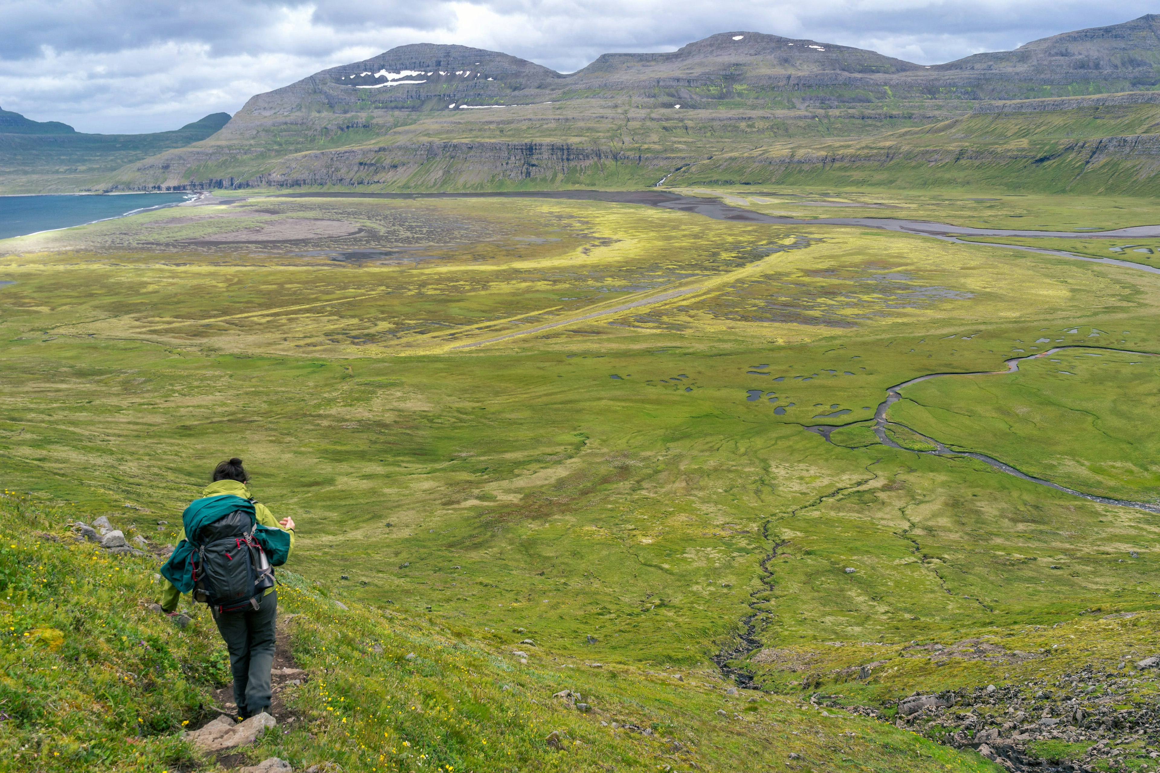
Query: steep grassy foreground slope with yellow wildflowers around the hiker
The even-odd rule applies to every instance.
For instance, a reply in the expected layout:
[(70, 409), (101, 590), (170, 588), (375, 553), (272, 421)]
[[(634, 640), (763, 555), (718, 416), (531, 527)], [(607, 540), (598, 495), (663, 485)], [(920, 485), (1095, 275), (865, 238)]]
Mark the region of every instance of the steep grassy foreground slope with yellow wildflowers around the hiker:
[[(93, 519), (0, 494), (6, 771), (220, 770), (273, 756), (296, 770), (730, 771), (753, 756), (789, 753), (814, 765), (854, 756), (850, 770), (992, 770), (908, 731), (819, 716), (793, 698), (740, 702), (715, 673), (677, 683), (624, 666), (564, 669), (546, 656), (521, 663), (455, 623), (341, 608), (326, 588), (287, 570), (278, 571), (282, 626), (289, 654), (310, 673), (281, 695), (283, 720), (296, 721), (240, 757), (215, 760), (181, 736), (217, 716), (209, 692), (230, 678), (208, 612), (187, 607), (194, 621), (180, 629), (145, 608), (140, 601), (158, 595), (158, 560), (110, 557), (78, 542), (66, 526), (80, 516)], [(552, 697), (564, 690), (593, 708)], [(744, 716), (723, 717), (720, 707)]]

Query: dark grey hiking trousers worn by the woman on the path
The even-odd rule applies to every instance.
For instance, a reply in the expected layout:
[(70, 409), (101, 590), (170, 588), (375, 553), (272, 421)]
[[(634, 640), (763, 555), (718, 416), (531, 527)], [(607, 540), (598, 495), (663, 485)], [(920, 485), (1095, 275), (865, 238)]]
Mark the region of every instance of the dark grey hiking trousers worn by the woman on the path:
[(278, 592), (262, 597), (258, 610), (213, 614), (218, 632), (230, 649), (233, 672), (233, 702), (242, 717), (261, 714), (270, 707), (270, 666), (274, 664), (274, 623)]

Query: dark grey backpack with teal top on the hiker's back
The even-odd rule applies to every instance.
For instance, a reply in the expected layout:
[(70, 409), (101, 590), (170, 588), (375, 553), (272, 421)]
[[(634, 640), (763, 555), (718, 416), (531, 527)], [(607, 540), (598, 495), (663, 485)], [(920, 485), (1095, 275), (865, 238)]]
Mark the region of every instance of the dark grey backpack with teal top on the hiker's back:
[(195, 601), (218, 614), (258, 610), (266, 589), (274, 586), (274, 569), (254, 539), (256, 528), (251, 512), (234, 510), (190, 535)]

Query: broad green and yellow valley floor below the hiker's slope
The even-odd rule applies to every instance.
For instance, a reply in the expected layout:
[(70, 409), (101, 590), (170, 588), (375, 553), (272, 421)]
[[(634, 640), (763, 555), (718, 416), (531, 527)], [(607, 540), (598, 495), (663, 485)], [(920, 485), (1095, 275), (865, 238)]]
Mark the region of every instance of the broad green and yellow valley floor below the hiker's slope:
[[(1012, 212), (717, 192), (980, 227)], [(1021, 202), (1051, 228), (1155, 225), (1132, 199)], [(1090, 345), (907, 387), (891, 421), (1078, 490), (1152, 496), (1160, 371), (1115, 350), (1160, 353), (1160, 276), (635, 204), (255, 195), (0, 241), (0, 279), (6, 488), (172, 540), (206, 471), (240, 455), (298, 523), (293, 573), (474, 642), (513, 679), (599, 663), (597, 695), (698, 739), (661, 764), (773, 767), (809, 728), (832, 736), (810, 742), (822, 768), (999, 770), (934, 731), (819, 729), (809, 699), (890, 719), (916, 690), (1153, 654), (1153, 515), (890, 447), (867, 420), (919, 375)], [(1090, 626), (1092, 610), (1137, 617)], [(906, 650), (970, 637), (1036, 657)], [(698, 686), (635, 680), (677, 672)], [(747, 719), (708, 727), (737, 684), (766, 691), (760, 710), (726, 693)]]

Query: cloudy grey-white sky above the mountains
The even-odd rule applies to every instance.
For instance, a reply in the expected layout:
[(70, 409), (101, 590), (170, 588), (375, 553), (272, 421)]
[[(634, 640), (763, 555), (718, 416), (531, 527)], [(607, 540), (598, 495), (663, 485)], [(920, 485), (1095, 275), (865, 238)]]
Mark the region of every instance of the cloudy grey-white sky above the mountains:
[(503, 51), (560, 72), (713, 32), (813, 38), (919, 64), (1115, 24), (1118, 0), (3, 0), (0, 107), (88, 132), (176, 129), (406, 43)]

